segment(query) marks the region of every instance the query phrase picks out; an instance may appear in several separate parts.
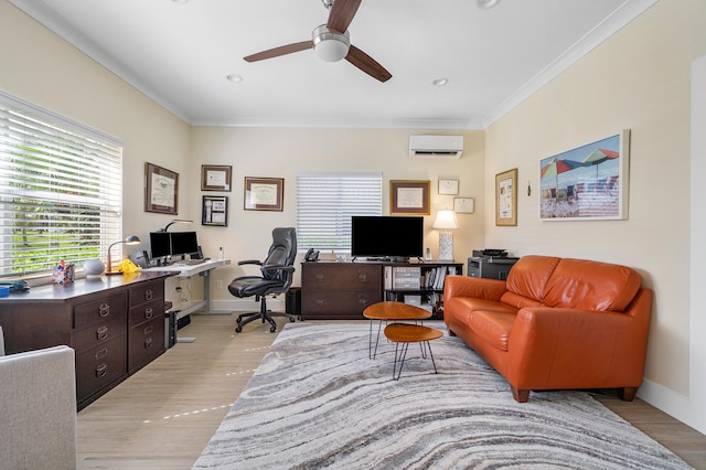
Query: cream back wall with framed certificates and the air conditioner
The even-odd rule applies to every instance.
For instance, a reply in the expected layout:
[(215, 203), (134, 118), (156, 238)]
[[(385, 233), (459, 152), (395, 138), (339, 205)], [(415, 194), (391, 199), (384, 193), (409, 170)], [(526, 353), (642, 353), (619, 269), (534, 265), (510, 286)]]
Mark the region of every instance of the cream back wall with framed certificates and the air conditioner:
[[(228, 195), (227, 227), (200, 226), (199, 238), (206, 256), (214, 258), (224, 246), (233, 260), (260, 259), (271, 243), (276, 226), (296, 225), (296, 177), (300, 171), (379, 171), (383, 173), (383, 211), (389, 213), (389, 180), (430, 180), (431, 214), (425, 218), (425, 247), (438, 253), (438, 232), (431, 229), (436, 212), (452, 209), (453, 196), (437, 193), (439, 178), (459, 179), (459, 195), (475, 199), (473, 214), (458, 214), (460, 228), (454, 232), (453, 254), (466, 264), (472, 249), (483, 247), (483, 132), (460, 131), (466, 137), (464, 153), (459, 160), (424, 160), (408, 157), (410, 133), (421, 130), (381, 129), (291, 129), (291, 128), (194, 128), (192, 131), (192, 172), (201, 164), (233, 165), (233, 190), (229, 193), (194, 192), (191, 213), (200, 214), (201, 195)], [(438, 132), (431, 132), (438, 133)], [(450, 131), (447, 133), (451, 133)], [(453, 132), (459, 133), (459, 132)], [(245, 211), (245, 177), (285, 179), (282, 212)], [(307, 247), (300, 247), (306, 249)], [(322, 254), (325, 256), (327, 254)], [(231, 266), (214, 271), (215, 309), (232, 310), (238, 302), (225, 289), (236, 276), (253, 273), (254, 267)], [(295, 285), (299, 284), (299, 277)], [(253, 307), (252, 305), (249, 307)], [(247, 307), (246, 307), (247, 308)]]

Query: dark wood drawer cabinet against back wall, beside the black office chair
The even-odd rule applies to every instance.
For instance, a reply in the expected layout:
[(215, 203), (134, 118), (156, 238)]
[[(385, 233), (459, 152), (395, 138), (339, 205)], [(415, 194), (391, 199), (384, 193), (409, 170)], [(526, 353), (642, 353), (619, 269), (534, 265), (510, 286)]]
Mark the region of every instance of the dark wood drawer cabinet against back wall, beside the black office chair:
[(359, 320), (383, 300), (383, 267), (365, 263), (303, 263), (301, 316), (304, 320)]

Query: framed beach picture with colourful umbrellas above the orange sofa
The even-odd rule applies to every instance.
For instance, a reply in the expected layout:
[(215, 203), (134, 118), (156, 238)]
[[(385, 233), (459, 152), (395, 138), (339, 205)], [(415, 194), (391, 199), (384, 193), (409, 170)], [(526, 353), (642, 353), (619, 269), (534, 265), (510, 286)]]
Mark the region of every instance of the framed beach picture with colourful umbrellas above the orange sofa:
[(539, 218), (628, 218), (630, 130), (539, 161)]

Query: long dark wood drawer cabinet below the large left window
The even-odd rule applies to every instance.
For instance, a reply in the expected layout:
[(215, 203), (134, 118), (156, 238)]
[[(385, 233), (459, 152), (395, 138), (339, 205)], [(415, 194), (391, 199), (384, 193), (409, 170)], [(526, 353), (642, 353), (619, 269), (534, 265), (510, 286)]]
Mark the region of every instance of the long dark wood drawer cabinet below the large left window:
[(0, 299), (6, 351), (73, 348), (76, 402), (82, 409), (164, 352), (169, 276), (104, 276)]

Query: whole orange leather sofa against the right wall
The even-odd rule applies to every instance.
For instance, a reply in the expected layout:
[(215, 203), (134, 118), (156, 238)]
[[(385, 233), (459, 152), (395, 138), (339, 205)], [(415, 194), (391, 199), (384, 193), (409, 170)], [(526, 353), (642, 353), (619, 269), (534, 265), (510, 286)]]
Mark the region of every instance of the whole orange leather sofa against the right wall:
[(447, 276), (443, 320), (510, 383), (530, 391), (618, 388), (644, 372), (652, 291), (625, 266), (524, 256), (506, 280)]

